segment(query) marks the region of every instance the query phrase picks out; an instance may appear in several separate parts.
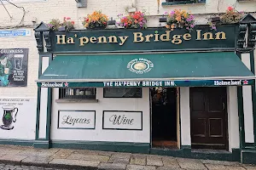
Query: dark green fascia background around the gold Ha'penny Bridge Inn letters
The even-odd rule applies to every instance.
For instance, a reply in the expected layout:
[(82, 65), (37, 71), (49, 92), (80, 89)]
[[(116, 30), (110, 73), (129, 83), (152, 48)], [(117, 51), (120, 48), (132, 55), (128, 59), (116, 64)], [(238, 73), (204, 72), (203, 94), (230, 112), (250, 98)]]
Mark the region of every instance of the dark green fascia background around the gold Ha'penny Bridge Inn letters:
[[(54, 53), (99, 53), (99, 52), (145, 52), (145, 51), (182, 51), (186, 50), (212, 50), (212, 49), (235, 49), (236, 44), (236, 25), (222, 25), (218, 26), (217, 31), (212, 31), (209, 26), (195, 26), (194, 31), (187, 31), (186, 29), (175, 29), (171, 32), (171, 41), (173, 35), (183, 35), (186, 33), (191, 34), (191, 40), (183, 40), (181, 44), (173, 44), (171, 41), (158, 41), (154, 42), (133, 42), (134, 32), (142, 32), (143, 36), (154, 34), (156, 31), (158, 34), (166, 33), (166, 28), (148, 28), (142, 29), (113, 29), (113, 30), (78, 30), (69, 32), (52, 32), (53, 44), (52, 49)], [(224, 31), (226, 39), (223, 40), (195, 40), (197, 38), (196, 30), (201, 30), (201, 33), (212, 32), (215, 35), (218, 31)], [(56, 44), (56, 35), (66, 35), (67, 37), (74, 38), (74, 44)], [(125, 37), (127, 40), (123, 45), (119, 43), (86, 43), (84, 46), (80, 46), (80, 37)], [(214, 37), (215, 38), (215, 37)], [(160, 39), (160, 38), (159, 38)]]

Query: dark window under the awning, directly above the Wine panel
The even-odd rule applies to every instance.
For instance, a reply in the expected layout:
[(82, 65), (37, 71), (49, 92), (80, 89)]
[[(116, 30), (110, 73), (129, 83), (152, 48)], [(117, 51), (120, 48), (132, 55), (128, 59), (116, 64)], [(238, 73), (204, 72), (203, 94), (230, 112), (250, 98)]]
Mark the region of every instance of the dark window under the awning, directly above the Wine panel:
[(142, 98), (142, 88), (104, 88), (104, 98)]

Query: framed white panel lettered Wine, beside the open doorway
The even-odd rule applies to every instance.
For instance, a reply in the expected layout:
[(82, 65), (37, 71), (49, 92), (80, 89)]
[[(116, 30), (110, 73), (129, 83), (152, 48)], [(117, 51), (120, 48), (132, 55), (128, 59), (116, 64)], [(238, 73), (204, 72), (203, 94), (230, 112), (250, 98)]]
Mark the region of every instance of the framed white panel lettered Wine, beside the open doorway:
[(143, 130), (143, 112), (103, 111), (103, 129)]

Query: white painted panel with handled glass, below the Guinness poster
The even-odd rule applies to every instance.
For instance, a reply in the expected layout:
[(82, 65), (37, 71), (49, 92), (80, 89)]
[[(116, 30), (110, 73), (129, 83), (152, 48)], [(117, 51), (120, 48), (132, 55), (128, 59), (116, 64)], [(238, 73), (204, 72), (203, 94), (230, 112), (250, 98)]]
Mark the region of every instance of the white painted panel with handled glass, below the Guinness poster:
[(34, 139), (36, 98), (0, 98), (0, 138)]

